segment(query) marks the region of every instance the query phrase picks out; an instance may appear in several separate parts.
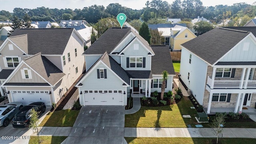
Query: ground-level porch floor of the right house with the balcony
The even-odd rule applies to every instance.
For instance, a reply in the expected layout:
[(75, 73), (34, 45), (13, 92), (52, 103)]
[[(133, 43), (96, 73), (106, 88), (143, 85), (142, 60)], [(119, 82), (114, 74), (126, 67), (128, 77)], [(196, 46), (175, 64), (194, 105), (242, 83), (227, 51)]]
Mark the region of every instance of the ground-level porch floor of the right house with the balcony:
[[(234, 112), (235, 108), (211, 108), (210, 113), (208, 114), (216, 114), (216, 112)], [(204, 111), (207, 111), (207, 108), (204, 108)], [(242, 112), (245, 112), (246, 114), (256, 114), (256, 109), (255, 108), (250, 108), (250, 107), (243, 107)]]

